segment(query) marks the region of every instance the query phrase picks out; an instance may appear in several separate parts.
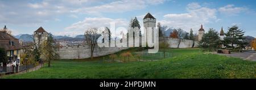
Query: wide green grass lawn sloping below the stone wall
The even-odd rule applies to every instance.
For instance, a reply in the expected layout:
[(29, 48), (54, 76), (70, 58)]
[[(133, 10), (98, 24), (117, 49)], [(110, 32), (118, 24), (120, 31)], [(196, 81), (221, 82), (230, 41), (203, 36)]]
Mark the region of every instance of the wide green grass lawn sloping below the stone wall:
[(57, 60), (51, 67), (2, 78), (256, 78), (256, 62), (203, 54), (199, 49), (167, 52), (173, 52), (174, 57), (154, 62)]

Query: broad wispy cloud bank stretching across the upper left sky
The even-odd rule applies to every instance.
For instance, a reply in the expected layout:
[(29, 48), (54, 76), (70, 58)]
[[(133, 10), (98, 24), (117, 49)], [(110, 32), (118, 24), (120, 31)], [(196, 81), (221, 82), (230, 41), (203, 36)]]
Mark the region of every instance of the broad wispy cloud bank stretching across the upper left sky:
[[(0, 1), (0, 23), (6, 24), (42, 24), (57, 16), (68, 14), (77, 18), (77, 14), (101, 16), (104, 12), (126, 12), (140, 10), (148, 5), (157, 5), (166, 0), (43, 0), (43, 1)], [(15, 12), (15, 13), (11, 13)]]

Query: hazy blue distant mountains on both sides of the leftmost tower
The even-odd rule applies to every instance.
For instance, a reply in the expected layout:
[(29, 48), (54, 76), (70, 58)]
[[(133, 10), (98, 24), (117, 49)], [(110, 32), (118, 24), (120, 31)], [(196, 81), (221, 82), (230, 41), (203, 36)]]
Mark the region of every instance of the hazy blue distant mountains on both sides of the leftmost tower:
[[(24, 42), (32, 42), (32, 35), (28, 34), (20, 34), (14, 36), (15, 38), (18, 38), (19, 40), (22, 40)], [(84, 35), (77, 35), (76, 37), (69, 37), (69, 36), (53, 36), (57, 41), (83, 41)]]

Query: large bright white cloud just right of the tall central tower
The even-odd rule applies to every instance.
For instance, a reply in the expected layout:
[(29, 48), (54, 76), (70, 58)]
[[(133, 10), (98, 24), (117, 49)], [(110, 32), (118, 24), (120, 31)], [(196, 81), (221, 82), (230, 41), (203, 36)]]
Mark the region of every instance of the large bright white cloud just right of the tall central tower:
[(182, 28), (186, 31), (192, 28), (194, 31), (197, 31), (201, 24), (220, 20), (217, 19), (216, 13), (217, 10), (214, 8), (201, 7), (198, 3), (190, 3), (187, 5), (187, 13), (167, 14), (164, 15), (164, 20), (159, 22), (169, 27)]

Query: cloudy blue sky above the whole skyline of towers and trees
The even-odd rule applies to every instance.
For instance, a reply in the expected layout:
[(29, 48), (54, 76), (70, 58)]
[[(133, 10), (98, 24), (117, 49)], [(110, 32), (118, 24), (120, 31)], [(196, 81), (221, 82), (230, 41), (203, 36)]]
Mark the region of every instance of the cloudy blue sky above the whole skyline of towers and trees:
[(156, 22), (170, 28), (197, 32), (214, 28), (226, 32), (238, 25), (245, 35), (256, 37), (255, 0), (0, 0), (0, 28), (13, 35), (32, 34), (43, 27), (53, 35), (83, 35), (88, 28), (129, 27), (135, 16), (143, 26), (150, 12)]

